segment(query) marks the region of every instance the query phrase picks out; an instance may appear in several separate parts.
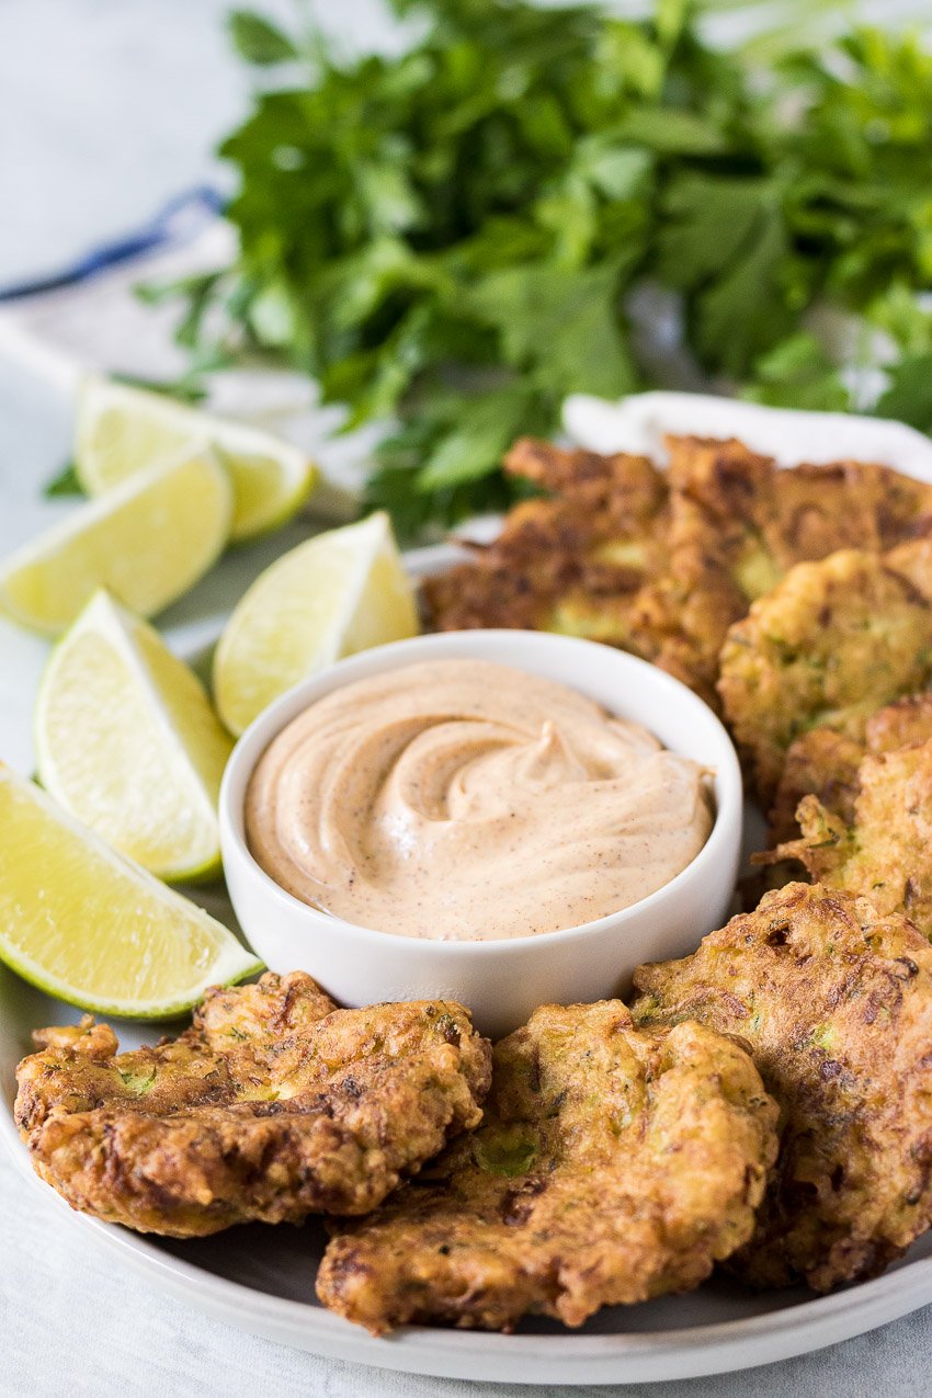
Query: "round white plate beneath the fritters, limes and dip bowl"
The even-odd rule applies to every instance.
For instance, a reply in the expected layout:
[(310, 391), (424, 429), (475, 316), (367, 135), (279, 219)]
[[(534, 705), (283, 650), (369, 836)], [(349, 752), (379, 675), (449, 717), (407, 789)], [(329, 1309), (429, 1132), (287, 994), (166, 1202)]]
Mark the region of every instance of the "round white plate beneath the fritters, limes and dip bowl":
[[(651, 411), (658, 397), (653, 396)], [(616, 424), (619, 440), (605, 439), (611, 421), (605, 411), (615, 410), (601, 405), (599, 411), (602, 449), (622, 447), (620, 422)], [(675, 425), (678, 431), (689, 431), (682, 417)], [(701, 431), (699, 424), (696, 426)], [(871, 422), (872, 456), (891, 464), (901, 461), (904, 470), (912, 467), (911, 474), (925, 477), (914, 461), (901, 459), (901, 429), (886, 439), (880, 433), (878, 440), (878, 426), (876, 421)], [(715, 431), (731, 428), (725, 422)], [(926, 478), (932, 478), (932, 473)], [(422, 549), (409, 555), (409, 565), (412, 572), (423, 573), (450, 556), (449, 549)], [(193, 657), (215, 637), (217, 626), (217, 617), (186, 621), (170, 639), (176, 649)], [(34, 679), (35, 667), (25, 667), (22, 703), (11, 713), (28, 712)], [(24, 751), (24, 734), (20, 727), (11, 728), (8, 717), (0, 717), (0, 754), (10, 749)], [(200, 896), (217, 916), (229, 916), (222, 893)], [(411, 1327), (387, 1339), (374, 1339), (317, 1304), (313, 1282), (324, 1234), (314, 1220), (300, 1229), (252, 1225), (189, 1241), (147, 1239), (74, 1213), (39, 1181), (13, 1124), (15, 1065), (29, 1051), (29, 1033), (35, 1026), (68, 1023), (75, 1018), (77, 1011), (25, 986), (0, 966), (0, 1137), (35, 1184), (36, 1206), (57, 1208), (64, 1225), (82, 1229), (88, 1239), (147, 1275), (158, 1289), (226, 1324), (296, 1349), (449, 1378), (538, 1387), (630, 1384), (692, 1378), (788, 1359), (850, 1339), (932, 1302), (932, 1234), (928, 1234), (884, 1276), (831, 1296), (813, 1297), (802, 1289), (753, 1295), (721, 1276), (689, 1296), (609, 1307), (580, 1331), (531, 1320), (514, 1335)], [(133, 1025), (117, 1028), (123, 1047), (144, 1039), (151, 1042), (161, 1032)]]

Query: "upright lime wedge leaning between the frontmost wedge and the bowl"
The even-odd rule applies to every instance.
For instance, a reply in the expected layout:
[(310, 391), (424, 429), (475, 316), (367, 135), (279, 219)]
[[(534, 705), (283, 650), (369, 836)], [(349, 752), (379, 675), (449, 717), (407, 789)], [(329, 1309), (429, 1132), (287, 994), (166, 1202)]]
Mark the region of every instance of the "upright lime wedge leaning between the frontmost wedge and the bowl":
[(35, 730), (42, 784), (75, 819), (159, 878), (218, 872), (232, 744), (197, 677), (105, 591), (53, 650)]

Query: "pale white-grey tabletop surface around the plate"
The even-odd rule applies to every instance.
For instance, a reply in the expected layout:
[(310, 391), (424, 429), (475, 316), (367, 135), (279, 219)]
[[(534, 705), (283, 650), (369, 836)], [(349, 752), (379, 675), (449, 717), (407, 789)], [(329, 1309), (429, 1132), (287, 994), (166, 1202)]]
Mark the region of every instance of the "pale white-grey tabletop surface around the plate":
[[(211, 143), (235, 120), (245, 91), (219, 31), (226, 8), (226, 0), (0, 0), (0, 284), (54, 270), (96, 239), (138, 224), (180, 187), (215, 175)], [(263, 8), (291, 13), (289, 0), (265, 0)], [(340, 14), (367, 27), (373, 8), (367, 0), (341, 0)], [(922, 13), (922, 6), (883, 0), (875, 14), (908, 8)], [(0, 552), (68, 507), (39, 496), (41, 482), (67, 459), (68, 433), (60, 396), (0, 361)], [(25, 733), (28, 712), (17, 696), (42, 647), (8, 633), (0, 636), (0, 656), (3, 727)], [(27, 751), (24, 740), (18, 765)], [(66, 1225), (59, 1208), (0, 1158), (0, 1398), (520, 1398), (532, 1391), (393, 1374), (256, 1339), (165, 1299)], [(742, 1374), (549, 1392), (928, 1394), (931, 1318), (932, 1307), (830, 1350)]]

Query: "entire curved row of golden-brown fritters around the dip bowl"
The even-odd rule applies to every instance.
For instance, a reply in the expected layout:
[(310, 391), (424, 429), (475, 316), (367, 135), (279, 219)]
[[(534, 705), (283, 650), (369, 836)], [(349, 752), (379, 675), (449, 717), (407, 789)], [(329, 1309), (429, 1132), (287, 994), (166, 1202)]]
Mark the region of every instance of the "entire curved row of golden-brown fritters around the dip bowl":
[(179, 1237), (342, 1215), (319, 1295), (374, 1332), (580, 1325), (718, 1262), (827, 1290), (929, 1229), (932, 487), (668, 446), (664, 473), (517, 443), (548, 495), (425, 603), (720, 705), (785, 886), (643, 966), (632, 1012), (542, 1007), (493, 1065), (460, 1005), (341, 1011), (300, 973), (208, 993), (156, 1048), (43, 1030), (17, 1121), (75, 1208)]

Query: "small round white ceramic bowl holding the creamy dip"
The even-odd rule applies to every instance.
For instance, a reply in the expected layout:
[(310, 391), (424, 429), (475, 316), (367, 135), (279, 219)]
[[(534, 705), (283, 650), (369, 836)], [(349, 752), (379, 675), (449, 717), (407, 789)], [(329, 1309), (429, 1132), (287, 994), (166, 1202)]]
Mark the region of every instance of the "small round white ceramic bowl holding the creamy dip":
[[(489, 942), (435, 942), (356, 927), (286, 893), (249, 853), (243, 801), (259, 758), (307, 705), (354, 679), (440, 658), (492, 660), (578, 689), (611, 713), (711, 768), (713, 832), (669, 884), (608, 917), (566, 931)], [(366, 650), (296, 685), (246, 730), (221, 788), (221, 843), (240, 925), (271, 970), (309, 972), (344, 1005), (458, 1000), (483, 1033), (524, 1023), (537, 1005), (625, 993), (644, 960), (683, 956), (727, 918), (742, 835), (738, 758), (724, 727), (679, 681), (633, 656), (545, 632), (464, 630)]]

